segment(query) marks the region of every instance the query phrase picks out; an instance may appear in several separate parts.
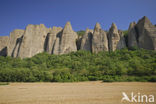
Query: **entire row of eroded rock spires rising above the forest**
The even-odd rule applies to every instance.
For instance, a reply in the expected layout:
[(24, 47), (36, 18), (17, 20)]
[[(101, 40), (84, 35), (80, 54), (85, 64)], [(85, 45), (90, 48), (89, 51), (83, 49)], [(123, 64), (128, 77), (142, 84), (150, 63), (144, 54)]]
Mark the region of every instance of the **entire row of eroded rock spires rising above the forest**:
[(25, 30), (14, 30), (9, 37), (0, 37), (0, 55), (27, 58), (41, 52), (59, 55), (78, 49), (98, 53), (125, 48), (126, 42), (128, 47), (156, 50), (156, 27), (144, 16), (137, 24), (130, 24), (126, 39), (127, 41), (114, 23), (108, 32), (96, 23), (94, 30), (86, 29), (85, 34), (79, 38), (70, 22), (64, 28), (46, 28), (43, 24), (28, 25)]

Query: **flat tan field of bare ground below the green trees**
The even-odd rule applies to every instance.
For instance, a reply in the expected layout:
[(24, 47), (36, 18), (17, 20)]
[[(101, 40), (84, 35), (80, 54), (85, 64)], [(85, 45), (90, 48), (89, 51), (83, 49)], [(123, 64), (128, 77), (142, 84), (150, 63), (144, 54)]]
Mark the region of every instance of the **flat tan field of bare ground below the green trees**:
[(156, 96), (156, 83), (10, 83), (0, 86), (0, 104), (123, 104), (132, 91)]

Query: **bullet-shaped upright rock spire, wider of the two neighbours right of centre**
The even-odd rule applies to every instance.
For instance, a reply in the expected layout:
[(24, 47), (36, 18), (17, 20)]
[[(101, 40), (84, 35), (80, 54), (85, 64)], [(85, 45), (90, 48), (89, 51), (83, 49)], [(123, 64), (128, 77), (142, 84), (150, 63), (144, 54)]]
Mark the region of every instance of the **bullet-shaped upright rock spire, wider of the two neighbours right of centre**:
[(107, 34), (101, 29), (99, 23), (96, 23), (92, 38), (92, 52), (108, 51)]

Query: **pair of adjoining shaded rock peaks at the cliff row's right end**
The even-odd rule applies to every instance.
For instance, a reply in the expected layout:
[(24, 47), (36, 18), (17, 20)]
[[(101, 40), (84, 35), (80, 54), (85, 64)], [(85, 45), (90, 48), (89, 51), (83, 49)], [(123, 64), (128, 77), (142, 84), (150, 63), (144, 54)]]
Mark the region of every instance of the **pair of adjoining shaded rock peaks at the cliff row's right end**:
[(156, 27), (144, 16), (137, 24), (130, 24), (128, 46), (156, 50)]

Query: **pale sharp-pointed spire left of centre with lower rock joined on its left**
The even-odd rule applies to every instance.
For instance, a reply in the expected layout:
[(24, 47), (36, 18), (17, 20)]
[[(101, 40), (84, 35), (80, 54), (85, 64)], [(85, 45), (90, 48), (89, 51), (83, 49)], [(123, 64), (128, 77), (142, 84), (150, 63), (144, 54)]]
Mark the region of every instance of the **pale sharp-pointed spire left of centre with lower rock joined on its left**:
[(49, 46), (51, 45), (50, 47), (53, 47), (52, 54), (59, 55), (77, 51), (77, 33), (73, 31), (70, 22), (67, 22), (63, 29), (53, 28), (52, 31), (53, 35), (51, 36), (51, 43), (49, 43)]

